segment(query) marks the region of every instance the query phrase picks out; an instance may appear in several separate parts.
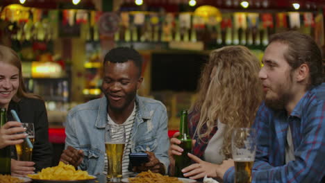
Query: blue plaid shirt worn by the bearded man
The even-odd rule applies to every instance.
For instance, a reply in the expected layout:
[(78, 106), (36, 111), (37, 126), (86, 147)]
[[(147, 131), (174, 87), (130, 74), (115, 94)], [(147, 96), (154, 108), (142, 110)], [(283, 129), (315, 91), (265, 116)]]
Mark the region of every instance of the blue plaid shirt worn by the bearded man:
[[(294, 144), (294, 161), (285, 164), (288, 125)], [(258, 147), (253, 182), (321, 182), (325, 175), (325, 82), (306, 92), (294, 110), (274, 111), (263, 103), (253, 128)], [(234, 167), (224, 182), (234, 182)]]

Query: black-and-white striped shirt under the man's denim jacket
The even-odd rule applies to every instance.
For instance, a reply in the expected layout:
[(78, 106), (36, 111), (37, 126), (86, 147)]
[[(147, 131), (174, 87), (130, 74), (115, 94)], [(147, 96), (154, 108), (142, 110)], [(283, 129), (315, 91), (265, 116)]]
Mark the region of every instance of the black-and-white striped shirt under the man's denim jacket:
[[(125, 144), (123, 158), (122, 158), (122, 175), (123, 176), (133, 174), (133, 172), (128, 171), (128, 163), (130, 162), (130, 160), (128, 159), (128, 155), (130, 154), (131, 145), (132, 145), (130, 139), (131, 139), (136, 110), (137, 110), (137, 107), (136, 107), (136, 105), (134, 105), (133, 112), (131, 113), (131, 115), (128, 116), (128, 119), (126, 119), (126, 121), (121, 124), (121, 125), (125, 126), (125, 132), (126, 132), (126, 134), (125, 134), (126, 144)], [(110, 116), (108, 114), (107, 114), (107, 119), (108, 119), (108, 121), (107, 121), (108, 124), (118, 125), (112, 119), (110, 119)], [(115, 134), (113, 134), (113, 135), (115, 135)], [(118, 135), (119, 134), (116, 134), (116, 137)], [(119, 137), (117, 137), (117, 138), (119, 138)], [(108, 171), (108, 159), (107, 159), (107, 155), (105, 153), (105, 167), (104, 167), (103, 174), (107, 175), (107, 171)]]

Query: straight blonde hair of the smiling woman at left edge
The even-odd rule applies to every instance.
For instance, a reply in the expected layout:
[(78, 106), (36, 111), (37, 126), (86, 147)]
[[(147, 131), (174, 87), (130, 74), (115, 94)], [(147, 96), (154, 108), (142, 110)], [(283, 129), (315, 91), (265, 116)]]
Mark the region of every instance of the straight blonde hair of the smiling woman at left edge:
[(20, 60), (15, 51), (13, 51), (7, 46), (3, 46), (0, 44), (0, 62), (10, 64), (19, 69), (19, 87), (17, 89), (17, 93), (12, 98), (12, 101), (18, 102), (24, 97), (41, 99), (40, 96), (37, 96), (35, 94), (29, 94), (26, 92), (24, 79), (22, 77), (22, 61)]

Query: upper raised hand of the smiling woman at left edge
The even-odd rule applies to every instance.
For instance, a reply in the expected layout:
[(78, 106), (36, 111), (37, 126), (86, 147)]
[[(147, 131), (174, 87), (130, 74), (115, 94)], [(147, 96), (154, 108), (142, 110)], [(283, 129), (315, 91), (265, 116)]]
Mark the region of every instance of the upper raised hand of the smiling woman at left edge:
[(25, 131), (26, 129), (22, 128), (22, 123), (8, 121), (0, 128), (0, 148), (22, 143), (27, 136), (27, 134), (22, 133)]

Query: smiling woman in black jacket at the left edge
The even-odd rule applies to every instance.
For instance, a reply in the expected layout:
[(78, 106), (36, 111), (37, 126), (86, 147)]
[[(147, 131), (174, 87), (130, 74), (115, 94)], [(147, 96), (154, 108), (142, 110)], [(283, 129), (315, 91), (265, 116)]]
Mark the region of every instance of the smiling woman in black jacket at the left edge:
[[(3, 45), (0, 45), (0, 107), (8, 112), (8, 123), (0, 129), (0, 148), (22, 143), (24, 138), (24, 134), (15, 134), (24, 129), (13, 119), (10, 110), (15, 110), (23, 123), (34, 123), (35, 128), (32, 162), (11, 159), (11, 175), (25, 176), (51, 166), (52, 150), (44, 101), (25, 92), (22, 62), (15, 51)], [(15, 154), (15, 150), (12, 153)]]

